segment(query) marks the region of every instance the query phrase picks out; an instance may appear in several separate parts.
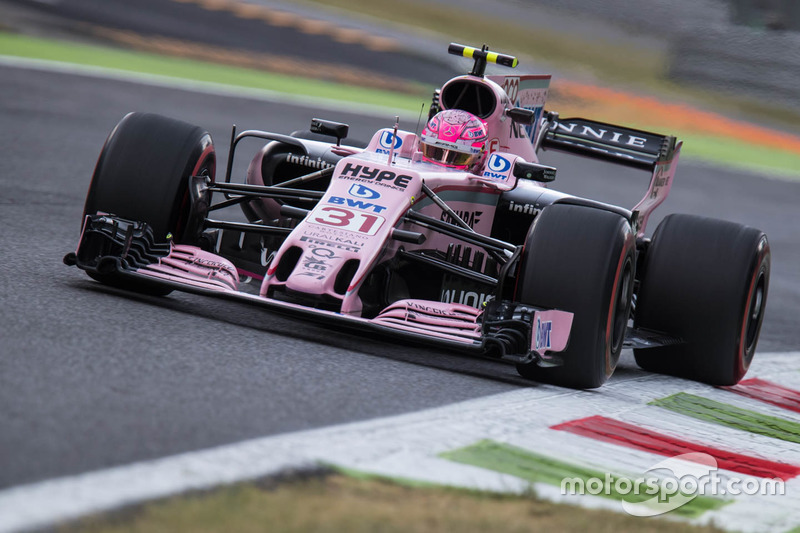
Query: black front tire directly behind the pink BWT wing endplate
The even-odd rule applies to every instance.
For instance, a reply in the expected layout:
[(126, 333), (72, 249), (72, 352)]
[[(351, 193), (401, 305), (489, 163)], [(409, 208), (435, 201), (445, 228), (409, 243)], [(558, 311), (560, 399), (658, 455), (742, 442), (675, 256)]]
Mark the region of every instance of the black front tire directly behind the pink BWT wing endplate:
[(574, 388), (601, 386), (625, 340), (635, 269), (635, 239), (621, 216), (554, 204), (536, 218), (520, 265), (516, 299), (574, 314), (564, 364), (517, 365), (523, 377)]

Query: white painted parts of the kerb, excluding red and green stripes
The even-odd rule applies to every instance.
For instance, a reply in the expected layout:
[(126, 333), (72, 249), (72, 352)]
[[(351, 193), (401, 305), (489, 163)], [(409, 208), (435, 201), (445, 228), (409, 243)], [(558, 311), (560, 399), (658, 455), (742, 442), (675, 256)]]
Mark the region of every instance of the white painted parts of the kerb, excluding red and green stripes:
[[(765, 353), (758, 354), (748, 377), (797, 387), (798, 370), (800, 352)], [(596, 469), (644, 472), (659, 456), (614, 450), (603, 443), (594, 443), (592, 451), (582, 437), (549, 429), (553, 424), (596, 414), (637, 418), (648, 410), (649, 425), (658, 428), (667, 413), (647, 406), (648, 401), (682, 391), (700, 395), (714, 391), (700, 383), (632, 369), (626, 374), (633, 377), (612, 379), (595, 391), (547, 385), (520, 388), (416, 413), (253, 439), (12, 487), (0, 491), (0, 531), (53, 526), (87, 514), (319, 463), (483, 490), (518, 493), (528, 489), (530, 485), (519, 478), (438, 457), (481, 439), (519, 445)], [(780, 449), (772, 439), (751, 439), (739, 430), (722, 431), (708, 422), (683, 418), (682, 431), (704, 435), (708, 444), (781, 459), (775, 457)], [(603, 453), (596, 453), (598, 449)], [(613, 500), (561, 496), (553, 487), (534, 486), (541, 497), (621, 512), (619, 502)], [(778, 499), (742, 497), (697, 521), (705, 523), (712, 517), (718, 526), (742, 531), (790, 529), (800, 524), (800, 483), (792, 480), (787, 494)]]

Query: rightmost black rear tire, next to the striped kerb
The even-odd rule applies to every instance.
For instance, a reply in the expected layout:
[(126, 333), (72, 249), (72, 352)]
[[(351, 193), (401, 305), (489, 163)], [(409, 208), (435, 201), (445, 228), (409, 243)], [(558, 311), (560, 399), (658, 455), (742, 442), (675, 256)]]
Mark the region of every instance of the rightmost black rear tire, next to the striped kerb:
[(712, 385), (738, 383), (764, 320), (766, 235), (733, 222), (670, 215), (653, 235), (643, 271), (635, 325), (685, 344), (634, 350), (636, 363)]

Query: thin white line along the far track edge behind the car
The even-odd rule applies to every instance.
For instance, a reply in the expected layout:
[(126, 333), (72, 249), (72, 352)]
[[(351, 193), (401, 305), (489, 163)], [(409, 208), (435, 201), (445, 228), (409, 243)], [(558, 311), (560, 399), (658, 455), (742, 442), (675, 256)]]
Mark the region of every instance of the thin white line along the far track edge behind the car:
[[(279, 91), (271, 91), (269, 89), (256, 89), (250, 87), (240, 87), (236, 85), (226, 85), (224, 83), (215, 83), (210, 81), (174, 78), (159, 74), (146, 74), (122, 69), (68, 63), (64, 61), (51, 61), (48, 59), (33, 59), (0, 55), (0, 65), (6, 67), (39, 70), (44, 72), (74, 74), (76, 76), (84, 76), (89, 78), (138, 83), (151, 87), (179, 89), (182, 91), (192, 91), (196, 93), (229, 98), (250, 98), (253, 100), (261, 100), (264, 102), (277, 104), (295, 105), (318, 110), (339, 111), (368, 117), (386, 118), (387, 120), (393, 120), (398, 114), (400, 115), (400, 118), (406, 122), (417, 120), (417, 115), (407, 110), (398, 110), (388, 106), (360, 104), (356, 102), (348, 102), (346, 100), (334, 100), (319, 96), (282, 93)], [(420, 101), (420, 105), (421, 104), (422, 100)]]

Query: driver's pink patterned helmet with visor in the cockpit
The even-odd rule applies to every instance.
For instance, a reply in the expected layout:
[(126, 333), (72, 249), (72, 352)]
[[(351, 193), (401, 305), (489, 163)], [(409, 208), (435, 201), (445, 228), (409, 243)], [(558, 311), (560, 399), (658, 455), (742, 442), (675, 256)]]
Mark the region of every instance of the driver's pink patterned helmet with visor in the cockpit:
[(472, 113), (447, 109), (437, 113), (422, 130), (420, 149), (425, 161), (466, 169), (483, 155), (489, 133)]

